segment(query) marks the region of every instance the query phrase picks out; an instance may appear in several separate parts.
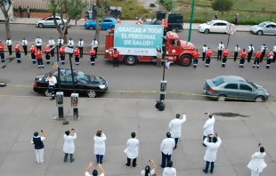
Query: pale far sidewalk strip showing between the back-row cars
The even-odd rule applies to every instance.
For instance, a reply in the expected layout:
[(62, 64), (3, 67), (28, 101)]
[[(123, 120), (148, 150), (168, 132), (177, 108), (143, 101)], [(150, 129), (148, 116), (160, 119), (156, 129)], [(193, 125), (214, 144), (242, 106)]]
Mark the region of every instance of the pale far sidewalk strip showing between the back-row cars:
[[(37, 19), (37, 18), (17, 18), (16, 20), (11, 20), (10, 23), (11, 24), (26, 24), (26, 25), (35, 25), (37, 20), (41, 20), (41, 19)], [(123, 24), (135, 24), (137, 20), (122, 20)], [(83, 27), (85, 25), (85, 20), (77, 20), (77, 27)], [(70, 25), (71, 26), (75, 26), (75, 20), (71, 20), (70, 21)], [(199, 29), (199, 25), (198, 23), (193, 23), (191, 28), (192, 30), (198, 30)], [(250, 31), (250, 28), (252, 26), (249, 25), (239, 25), (236, 27), (236, 31), (237, 32), (248, 32)], [(183, 23), (183, 28), (184, 29), (189, 29), (190, 28), (190, 23)]]

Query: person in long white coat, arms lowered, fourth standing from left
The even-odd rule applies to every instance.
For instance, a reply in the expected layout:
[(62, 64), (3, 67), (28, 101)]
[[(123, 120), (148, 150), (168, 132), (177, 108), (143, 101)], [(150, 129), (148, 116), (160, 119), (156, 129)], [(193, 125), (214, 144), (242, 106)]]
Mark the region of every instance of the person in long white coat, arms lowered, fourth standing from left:
[(126, 149), (125, 153), (127, 156), (127, 163), (126, 166), (129, 167), (131, 160), (133, 159), (133, 167), (136, 166), (136, 160), (138, 157), (138, 150), (139, 150), (139, 140), (135, 139), (135, 132), (131, 133), (131, 139), (126, 141)]

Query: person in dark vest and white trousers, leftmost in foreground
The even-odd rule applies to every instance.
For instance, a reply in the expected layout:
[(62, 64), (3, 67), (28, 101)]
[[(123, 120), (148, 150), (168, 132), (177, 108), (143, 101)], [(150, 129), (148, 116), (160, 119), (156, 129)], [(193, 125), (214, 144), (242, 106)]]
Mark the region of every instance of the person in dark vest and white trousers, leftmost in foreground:
[(38, 136), (38, 132), (35, 132), (34, 137), (30, 140), (30, 142), (35, 145), (38, 164), (42, 164), (44, 162), (44, 153), (45, 153), (44, 151), (45, 145), (43, 141), (46, 140), (46, 132), (43, 130), (41, 132), (43, 136)]

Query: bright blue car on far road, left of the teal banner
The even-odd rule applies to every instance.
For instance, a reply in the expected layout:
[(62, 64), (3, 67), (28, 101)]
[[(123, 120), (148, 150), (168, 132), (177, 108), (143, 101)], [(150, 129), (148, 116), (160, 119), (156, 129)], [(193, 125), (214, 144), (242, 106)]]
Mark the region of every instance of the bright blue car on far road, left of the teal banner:
[[(116, 22), (116, 19), (114, 19), (114, 18), (105, 18), (101, 25), (101, 30), (110, 29), (110, 26), (115, 25), (115, 22)], [(101, 24), (101, 19), (99, 20), (99, 23)], [(96, 29), (96, 24), (97, 24), (96, 20), (89, 20), (89, 21), (85, 22), (85, 29), (94, 30), (94, 29)]]

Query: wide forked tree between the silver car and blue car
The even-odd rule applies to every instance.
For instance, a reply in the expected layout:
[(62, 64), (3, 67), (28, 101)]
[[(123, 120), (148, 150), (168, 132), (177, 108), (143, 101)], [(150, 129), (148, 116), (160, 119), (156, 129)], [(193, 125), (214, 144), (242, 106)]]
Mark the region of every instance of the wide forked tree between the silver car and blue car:
[[(71, 20), (78, 20), (83, 13), (87, 3), (83, 0), (48, 0), (49, 10), (53, 15), (54, 25), (57, 28), (61, 38), (64, 39), (64, 44), (67, 44), (66, 31)], [(61, 17), (61, 24), (59, 25), (56, 16)], [(77, 24), (77, 23), (75, 23)]]

